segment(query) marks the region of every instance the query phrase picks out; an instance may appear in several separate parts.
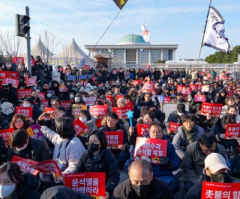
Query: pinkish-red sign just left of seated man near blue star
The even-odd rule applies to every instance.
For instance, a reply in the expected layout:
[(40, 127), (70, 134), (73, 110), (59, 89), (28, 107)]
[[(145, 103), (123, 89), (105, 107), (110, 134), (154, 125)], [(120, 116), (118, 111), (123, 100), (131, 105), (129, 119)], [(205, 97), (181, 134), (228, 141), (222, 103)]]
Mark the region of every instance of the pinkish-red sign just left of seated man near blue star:
[(101, 126), (102, 119), (107, 115), (108, 113), (108, 105), (95, 105), (90, 107), (90, 114), (93, 115), (96, 120), (97, 127)]

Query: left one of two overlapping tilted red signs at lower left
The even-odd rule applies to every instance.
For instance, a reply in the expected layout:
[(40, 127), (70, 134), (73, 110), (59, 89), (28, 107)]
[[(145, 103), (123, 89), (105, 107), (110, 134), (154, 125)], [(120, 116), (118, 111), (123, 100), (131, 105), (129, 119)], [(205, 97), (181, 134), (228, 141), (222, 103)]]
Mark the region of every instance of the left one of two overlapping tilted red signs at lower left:
[(12, 162), (17, 163), (18, 166), (20, 167), (20, 170), (23, 172), (28, 172), (31, 173), (33, 175), (37, 175), (39, 173), (38, 170), (35, 170), (33, 168), (31, 168), (31, 165), (37, 164), (38, 162), (34, 161), (34, 160), (30, 160), (27, 158), (22, 158), (19, 156), (13, 156), (12, 158)]

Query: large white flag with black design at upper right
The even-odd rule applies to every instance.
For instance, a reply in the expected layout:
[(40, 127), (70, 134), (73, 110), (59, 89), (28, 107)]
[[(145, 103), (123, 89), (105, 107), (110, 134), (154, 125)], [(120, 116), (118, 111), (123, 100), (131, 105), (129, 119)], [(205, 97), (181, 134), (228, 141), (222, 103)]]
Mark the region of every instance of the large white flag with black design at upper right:
[(230, 52), (228, 38), (224, 35), (224, 23), (225, 21), (222, 15), (211, 6), (203, 39), (203, 46), (209, 46), (225, 53)]

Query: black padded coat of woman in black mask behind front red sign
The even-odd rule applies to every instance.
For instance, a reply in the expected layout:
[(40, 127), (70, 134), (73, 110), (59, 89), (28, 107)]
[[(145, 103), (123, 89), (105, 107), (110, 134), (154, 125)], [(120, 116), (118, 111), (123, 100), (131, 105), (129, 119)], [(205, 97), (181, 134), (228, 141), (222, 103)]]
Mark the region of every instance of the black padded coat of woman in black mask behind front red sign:
[(74, 173), (80, 172), (104, 172), (106, 173), (106, 191), (113, 192), (119, 182), (117, 161), (111, 151), (101, 149), (95, 157), (85, 151), (76, 166)]

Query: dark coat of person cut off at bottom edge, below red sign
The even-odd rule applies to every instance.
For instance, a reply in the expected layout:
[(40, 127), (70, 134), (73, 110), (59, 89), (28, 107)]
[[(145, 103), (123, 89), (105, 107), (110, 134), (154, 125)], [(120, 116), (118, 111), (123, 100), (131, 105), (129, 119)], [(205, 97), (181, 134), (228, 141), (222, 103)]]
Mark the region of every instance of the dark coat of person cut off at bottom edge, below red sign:
[(66, 186), (54, 186), (46, 189), (41, 199), (92, 199), (91, 196), (72, 190)]

